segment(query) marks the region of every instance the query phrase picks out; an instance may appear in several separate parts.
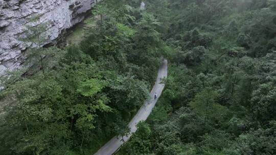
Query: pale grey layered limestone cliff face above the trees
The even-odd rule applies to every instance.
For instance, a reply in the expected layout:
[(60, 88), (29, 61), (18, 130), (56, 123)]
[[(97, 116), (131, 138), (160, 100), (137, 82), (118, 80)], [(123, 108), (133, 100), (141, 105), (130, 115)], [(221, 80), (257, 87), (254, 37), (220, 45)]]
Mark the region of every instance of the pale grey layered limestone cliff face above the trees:
[(0, 75), (24, 62), (28, 42), (19, 41), (30, 18), (39, 16), (37, 24), (49, 23), (47, 41), (57, 39), (63, 30), (83, 20), (97, 0), (0, 0)]

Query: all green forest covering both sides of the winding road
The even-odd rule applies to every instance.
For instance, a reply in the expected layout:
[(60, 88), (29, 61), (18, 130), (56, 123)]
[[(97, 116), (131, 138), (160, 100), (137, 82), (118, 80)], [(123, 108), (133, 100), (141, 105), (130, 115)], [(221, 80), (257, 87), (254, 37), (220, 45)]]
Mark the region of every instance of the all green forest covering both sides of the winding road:
[(119, 154), (276, 153), (276, 1), (144, 2), (103, 1), (80, 43), (26, 51), (1, 79), (1, 153), (93, 154), (127, 135), (162, 57), (166, 88)]

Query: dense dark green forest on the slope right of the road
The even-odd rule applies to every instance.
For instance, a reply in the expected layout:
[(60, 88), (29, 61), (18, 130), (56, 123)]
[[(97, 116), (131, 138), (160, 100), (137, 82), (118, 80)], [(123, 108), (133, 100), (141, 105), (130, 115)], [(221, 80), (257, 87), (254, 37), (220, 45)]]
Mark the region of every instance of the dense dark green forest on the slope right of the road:
[(120, 153), (275, 154), (276, 1), (146, 4), (167, 30), (169, 77)]

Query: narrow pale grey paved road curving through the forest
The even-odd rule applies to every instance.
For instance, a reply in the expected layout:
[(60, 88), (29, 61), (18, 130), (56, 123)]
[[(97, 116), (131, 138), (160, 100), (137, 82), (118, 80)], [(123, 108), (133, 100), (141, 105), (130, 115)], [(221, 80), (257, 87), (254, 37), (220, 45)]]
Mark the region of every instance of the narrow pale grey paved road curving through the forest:
[[(142, 120), (146, 120), (148, 116), (150, 115), (153, 107), (156, 104), (157, 99), (154, 99), (154, 94), (157, 92), (157, 97), (159, 98), (160, 94), (162, 94), (162, 91), (165, 87), (164, 84), (160, 84), (160, 79), (163, 77), (167, 77), (168, 74), (168, 61), (164, 60), (163, 64), (160, 65), (158, 69), (158, 75), (156, 77), (155, 85), (153, 86), (151, 92), (150, 92), (150, 99), (147, 99), (144, 102), (144, 105), (141, 107), (141, 109), (137, 112), (137, 114), (132, 118), (132, 120), (129, 122), (128, 126), (130, 127), (130, 135), (124, 136), (124, 141), (127, 141), (132, 133), (134, 133), (137, 128), (136, 124), (139, 123)], [(120, 148), (124, 142), (122, 140), (122, 137), (119, 137), (117, 139), (116, 137), (113, 137), (110, 141), (108, 141), (101, 149), (98, 150), (97, 153), (94, 155), (111, 155), (113, 152), (115, 152), (117, 149)]]

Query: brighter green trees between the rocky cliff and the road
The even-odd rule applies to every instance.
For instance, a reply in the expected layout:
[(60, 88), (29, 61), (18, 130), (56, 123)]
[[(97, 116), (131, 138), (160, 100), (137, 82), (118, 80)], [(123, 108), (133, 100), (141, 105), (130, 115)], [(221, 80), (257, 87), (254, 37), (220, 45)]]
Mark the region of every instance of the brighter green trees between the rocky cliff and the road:
[(27, 51), (25, 69), (1, 80), (1, 102), (9, 102), (1, 115), (1, 154), (93, 154), (129, 132), (155, 81), (159, 23), (118, 1), (97, 5), (93, 14), (101, 17), (98, 26), (66, 49), (40, 45), (47, 24), (26, 32), (24, 40), (37, 48)]

